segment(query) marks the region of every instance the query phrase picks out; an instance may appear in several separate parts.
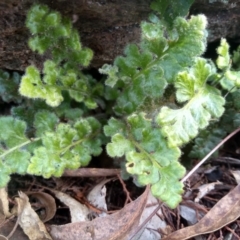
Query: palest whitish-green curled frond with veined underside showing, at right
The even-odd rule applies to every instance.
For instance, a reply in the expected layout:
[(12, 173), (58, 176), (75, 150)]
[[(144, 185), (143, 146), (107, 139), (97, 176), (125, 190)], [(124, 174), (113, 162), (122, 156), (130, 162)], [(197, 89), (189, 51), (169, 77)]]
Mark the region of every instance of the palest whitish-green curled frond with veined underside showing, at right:
[(224, 112), (225, 100), (220, 91), (206, 81), (215, 69), (205, 59), (198, 58), (189, 72), (180, 72), (175, 82), (177, 100), (188, 101), (181, 109), (163, 107), (157, 121), (169, 146), (181, 146), (196, 137), (211, 118), (219, 118)]

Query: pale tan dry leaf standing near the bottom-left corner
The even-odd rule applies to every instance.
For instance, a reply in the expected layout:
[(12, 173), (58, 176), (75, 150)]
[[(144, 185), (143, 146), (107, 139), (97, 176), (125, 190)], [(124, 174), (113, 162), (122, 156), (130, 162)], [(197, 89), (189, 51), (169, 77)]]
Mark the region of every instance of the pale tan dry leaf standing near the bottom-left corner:
[(18, 204), (18, 222), (24, 233), (30, 240), (52, 240), (48, 234), (45, 225), (39, 219), (37, 213), (32, 209), (28, 196), (19, 192), (19, 198), (16, 198)]

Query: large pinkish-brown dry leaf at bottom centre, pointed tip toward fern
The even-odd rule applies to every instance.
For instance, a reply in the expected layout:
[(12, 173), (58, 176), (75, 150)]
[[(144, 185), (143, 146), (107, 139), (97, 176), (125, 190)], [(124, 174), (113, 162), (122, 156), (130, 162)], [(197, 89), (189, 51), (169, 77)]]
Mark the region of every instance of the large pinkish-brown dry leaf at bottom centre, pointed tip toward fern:
[(139, 198), (112, 215), (91, 222), (52, 225), (50, 234), (54, 240), (127, 240), (138, 226), (148, 193), (149, 187)]

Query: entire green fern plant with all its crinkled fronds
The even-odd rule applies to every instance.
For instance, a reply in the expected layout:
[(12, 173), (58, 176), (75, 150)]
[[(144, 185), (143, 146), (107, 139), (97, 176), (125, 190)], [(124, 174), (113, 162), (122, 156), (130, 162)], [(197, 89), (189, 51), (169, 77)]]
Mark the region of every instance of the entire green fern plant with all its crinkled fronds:
[[(201, 58), (207, 20), (185, 19), (192, 2), (155, 0), (140, 42), (99, 69), (105, 84), (81, 70), (93, 52), (71, 21), (34, 5), (26, 20), (29, 47), (50, 59), (41, 70), (27, 67), (19, 92), (29, 99), (13, 92), (3, 98), (21, 105), (0, 118), (0, 187), (12, 173), (60, 177), (87, 166), (106, 145), (110, 157), (125, 159), (123, 176), (150, 184), (153, 195), (177, 207), (186, 172), (181, 147), (193, 142), (191, 156), (199, 158), (240, 124), (239, 49), (231, 56), (223, 39), (216, 66)], [(2, 93), (16, 88), (16, 76), (11, 88), (10, 75), (0, 73)]]

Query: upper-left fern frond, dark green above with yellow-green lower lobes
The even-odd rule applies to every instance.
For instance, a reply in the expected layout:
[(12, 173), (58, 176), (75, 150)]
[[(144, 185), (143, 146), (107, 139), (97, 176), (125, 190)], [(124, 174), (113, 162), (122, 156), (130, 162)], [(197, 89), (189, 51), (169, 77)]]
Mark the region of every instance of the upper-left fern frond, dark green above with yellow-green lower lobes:
[(35, 5), (28, 12), (26, 26), (33, 35), (29, 47), (40, 54), (50, 51), (52, 60), (44, 63), (43, 78), (35, 66), (26, 69), (20, 93), (29, 98), (44, 99), (48, 105), (56, 107), (63, 101), (62, 92), (68, 91), (74, 100), (84, 102), (90, 109), (96, 108), (94, 92), (101, 91), (101, 86), (79, 71), (80, 66), (89, 65), (93, 52), (82, 48), (79, 34), (72, 28), (70, 20), (62, 19), (58, 12), (50, 11), (47, 6)]

